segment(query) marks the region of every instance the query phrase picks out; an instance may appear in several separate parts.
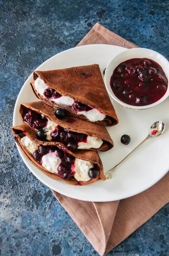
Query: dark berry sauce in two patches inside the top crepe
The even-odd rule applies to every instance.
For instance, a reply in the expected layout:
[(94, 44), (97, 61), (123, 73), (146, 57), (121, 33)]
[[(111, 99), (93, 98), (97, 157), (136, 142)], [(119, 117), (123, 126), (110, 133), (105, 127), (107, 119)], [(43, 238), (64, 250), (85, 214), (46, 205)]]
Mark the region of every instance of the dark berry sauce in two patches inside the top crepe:
[[(56, 90), (54, 90), (53, 88), (50, 88), (50, 87), (45, 89), (43, 94), (44, 94), (45, 98), (48, 98), (51, 100), (58, 99), (58, 98), (62, 97), (62, 95), (60, 93), (56, 92)], [(90, 111), (92, 109), (89, 106), (87, 106), (81, 102), (78, 102), (78, 101), (74, 101), (74, 103), (72, 104), (72, 108), (76, 112)]]

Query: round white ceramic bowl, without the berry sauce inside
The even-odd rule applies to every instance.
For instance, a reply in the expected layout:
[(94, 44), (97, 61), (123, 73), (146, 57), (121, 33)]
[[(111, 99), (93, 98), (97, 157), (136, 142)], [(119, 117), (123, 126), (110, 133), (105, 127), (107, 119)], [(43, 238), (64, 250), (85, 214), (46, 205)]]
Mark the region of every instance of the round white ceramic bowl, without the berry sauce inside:
[(127, 61), (132, 58), (149, 58), (149, 59), (152, 59), (153, 61), (156, 61), (162, 67), (162, 69), (168, 79), (168, 82), (169, 82), (169, 61), (163, 55), (161, 55), (160, 53), (155, 52), (153, 50), (146, 49), (146, 48), (132, 48), (132, 49), (127, 49), (126, 51), (119, 53), (109, 62), (108, 66), (106, 68), (105, 75), (104, 75), (104, 82), (105, 82), (107, 91), (116, 102), (123, 105), (125, 108), (129, 108), (132, 110), (144, 110), (147, 108), (152, 108), (152, 107), (160, 104), (161, 102), (163, 102), (169, 96), (169, 84), (168, 84), (166, 93), (164, 94), (164, 96), (161, 99), (159, 99), (155, 103), (152, 103), (150, 105), (145, 105), (145, 106), (132, 106), (132, 105), (122, 102), (120, 99), (118, 99), (115, 96), (115, 94), (113, 93), (113, 90), (110, 87), (110, 78), (113, 74), (113, 70), (115, 70), (115, 68), (121, 62)]

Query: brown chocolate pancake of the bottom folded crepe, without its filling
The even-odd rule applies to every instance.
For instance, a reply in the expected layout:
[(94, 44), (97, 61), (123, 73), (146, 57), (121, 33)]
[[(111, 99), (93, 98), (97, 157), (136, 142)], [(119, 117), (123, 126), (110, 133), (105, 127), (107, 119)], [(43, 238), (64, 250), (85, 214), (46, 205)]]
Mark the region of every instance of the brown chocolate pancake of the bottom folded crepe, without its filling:
[(44, 172), (46, 175), (48, 175), (51, 178), (58, 179), (58, 180), (63, 180), (61, 177), (59, 177), (57, 174), (49, 172), (47, 169), (45, 169), (41, 164), (39, 164), (32, 154), (27, 151), (25, 146), (20, 142), (21, 138), (25, 135), (28, 136), (29, 139), (31, 139), (34, 143), (37, 143), (39, 145), (43, 146), (59, 146), (59, 148), (63, 149), (67, 154), (72, 155), (75, 158), (79, 158), (82, 160), (90, 161), (93, 164), (97, 165), (97, 169), (99, 170), (99, 177), (94, 179), (94, 180), (89, 180), (89, 181), (77, 181), (76, 179), (71, 179), (71, 180), (63, 180), (66, 183), (69, 183), (71, 185), (87, 185), (90, 183), (93, 183), (97, 180), (105, 180), (106, 178), (104, 177), (103, 173), (103, 165), (101, 163), (101, 159), (99, 155), (97, 154), (96, 151), (88, 151), (88, 150), (76, 150), (73, 153), (68, 150), (68, 148), (65, 147), (65, 145), (58, 143), (58, 142), (43, 142), (41, 140), (36, 139), (36, 132), (31, 129), (28, 125), (18, 125), (18, 126), (13, 126), (11, 127), (11, 130), (14, 134), (14, 139), (19, 145), (20, 149), (23, 151), (26, 157), (33, 163), (35, 166), (37, 166), (42, 172)]

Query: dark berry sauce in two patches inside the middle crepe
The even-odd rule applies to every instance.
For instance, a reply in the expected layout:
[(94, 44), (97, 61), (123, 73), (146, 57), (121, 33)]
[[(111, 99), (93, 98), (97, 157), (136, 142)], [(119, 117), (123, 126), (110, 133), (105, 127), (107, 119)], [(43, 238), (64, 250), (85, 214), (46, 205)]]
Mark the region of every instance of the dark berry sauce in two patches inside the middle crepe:
[[(23, 108), (22, 116), (23, 120), (27, 122), (28, 125), (37, 130), (42, 128), (45, 130), (48, 124), (48, 119), (45, 116), (29, 108)], [(51, 131), (50, 135), (52, 137), (51, 141), (63, 143), (71, 151), (76, 150), (79, 142), (87, 143), (86, 134), (70, 131), (60, 125), (57, 125), (55, 130)]]

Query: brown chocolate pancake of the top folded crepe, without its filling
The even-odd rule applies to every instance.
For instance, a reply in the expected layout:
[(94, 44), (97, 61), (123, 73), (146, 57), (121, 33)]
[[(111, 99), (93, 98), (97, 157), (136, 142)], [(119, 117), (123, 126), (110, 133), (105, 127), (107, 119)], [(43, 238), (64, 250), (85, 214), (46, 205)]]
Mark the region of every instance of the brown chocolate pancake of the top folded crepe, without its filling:
[[(107, 93), (98, 64), (61, 70), (34, 71), (34, 79), (31, 86), (37, 97), (54, 108), (64, 108), (67, 114), (77, 116), (72, 106), (56, 104), (51, 99), (39, 95), (34, 87), (34, 81), (37, 77), (62, 96), (69, 96), (75, 101), (82, 102), (90, 108), (96, 108), (101, 113), (106, 114), (102, 121), (96, 121), (95, 123), (106, 126), (113, 126), (118, 123), (118, 118)], [(78, 115), (78, 117), (89, 121), (84, 115)]]

